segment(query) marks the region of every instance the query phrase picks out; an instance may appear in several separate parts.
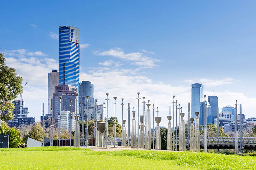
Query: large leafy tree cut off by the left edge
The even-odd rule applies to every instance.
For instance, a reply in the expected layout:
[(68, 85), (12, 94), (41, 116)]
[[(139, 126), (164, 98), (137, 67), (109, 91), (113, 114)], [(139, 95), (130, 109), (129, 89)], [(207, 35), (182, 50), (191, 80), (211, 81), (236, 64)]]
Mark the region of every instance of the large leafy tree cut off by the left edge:
[(0, 52), (0, 119), (13, 119), (14, 100), (22, 92), (22, 78), (16, 75), (14, 68), (5, 65), (5, 58)]

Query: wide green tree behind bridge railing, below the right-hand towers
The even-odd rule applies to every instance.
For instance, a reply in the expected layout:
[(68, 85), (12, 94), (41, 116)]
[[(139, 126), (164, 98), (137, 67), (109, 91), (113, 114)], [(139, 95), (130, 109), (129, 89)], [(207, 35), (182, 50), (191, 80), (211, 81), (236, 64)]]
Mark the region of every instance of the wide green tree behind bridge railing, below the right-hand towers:
[[(200, 126), (200, 135), (204, 135), (204, 125)], [(208, 137), (217, 137), (217, 126), (212, 123), (207, 124), (207, 136)], [(219, 136), (220, 137), (229, 137), (229, 135), (225, 134), (223, 129), (219, 128)]]

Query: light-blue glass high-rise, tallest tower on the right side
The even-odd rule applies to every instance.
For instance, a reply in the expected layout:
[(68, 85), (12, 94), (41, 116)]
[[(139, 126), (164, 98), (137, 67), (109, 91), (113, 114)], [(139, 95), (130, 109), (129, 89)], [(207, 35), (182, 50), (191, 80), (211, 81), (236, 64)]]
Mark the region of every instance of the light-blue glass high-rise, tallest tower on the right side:
[[(196, 118), (195, 112), (200, 112), (200, 104), (204, 101), (204, 85), (195, 83), (191, 89), (191, 118)], [(199, 113), (199, 118), (202, 117)]]

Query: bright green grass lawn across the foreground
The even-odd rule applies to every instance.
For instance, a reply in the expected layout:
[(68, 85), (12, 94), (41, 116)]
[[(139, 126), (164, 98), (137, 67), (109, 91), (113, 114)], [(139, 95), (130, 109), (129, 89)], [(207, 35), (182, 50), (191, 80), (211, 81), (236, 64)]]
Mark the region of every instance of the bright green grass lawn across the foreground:
[(73, 147), (0, 149), (0, 169), (256, 169), (253, 156)]

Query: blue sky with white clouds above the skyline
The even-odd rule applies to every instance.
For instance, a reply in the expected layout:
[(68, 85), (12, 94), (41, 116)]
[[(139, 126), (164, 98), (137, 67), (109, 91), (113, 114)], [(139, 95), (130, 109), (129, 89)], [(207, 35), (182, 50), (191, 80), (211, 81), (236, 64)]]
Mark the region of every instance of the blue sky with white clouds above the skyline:
[(94, 84), (98, 103), (105, 93), (124, 98), (126, 113), (128, 102), (137, 110), (141, 92), (167, 125), (172, 96), (187, 113), (197, 82), (205, 95), (216, 92), (219, 107), (238, 100), (246, 117), (255, 117), (255, 1), (4, 1), (1, 7), (1, 52), (23, 79), (32, 75), (23, 93), (29, 116), (39, 119), (41, 103), (47, 106), (47, 73), (59, 69), (58, 27), (71, 25), (80, 28), (80, 81)]

